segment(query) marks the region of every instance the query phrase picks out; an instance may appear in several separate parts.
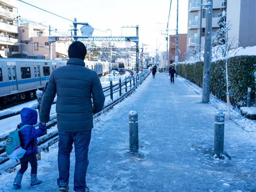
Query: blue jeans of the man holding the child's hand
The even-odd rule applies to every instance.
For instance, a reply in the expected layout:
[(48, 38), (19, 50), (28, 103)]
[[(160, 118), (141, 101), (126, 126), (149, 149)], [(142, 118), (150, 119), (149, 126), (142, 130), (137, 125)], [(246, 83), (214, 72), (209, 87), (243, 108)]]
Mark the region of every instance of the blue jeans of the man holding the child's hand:
[(86, 171), (89, 164), (88, 150), (91, 141), (91, 130), (81, 132), (64, 132), (59, 131), (59, 152), (58, 167), (59, 178), (58, 186), (67, 186), (69, 178), (70, 153), (72, 144), (75, 145), (75, 173), (74, 173), (74, 191), (84, 191), (86, 187)]

